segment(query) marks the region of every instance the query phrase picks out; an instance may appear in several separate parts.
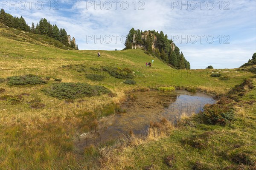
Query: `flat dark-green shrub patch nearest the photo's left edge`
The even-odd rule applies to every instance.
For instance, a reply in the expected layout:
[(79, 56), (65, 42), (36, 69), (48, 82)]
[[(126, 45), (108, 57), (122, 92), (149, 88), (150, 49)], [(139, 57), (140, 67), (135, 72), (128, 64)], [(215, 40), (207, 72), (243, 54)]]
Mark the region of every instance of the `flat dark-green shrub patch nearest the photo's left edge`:
[(8, 77), (8, 85), (40, 85), (40, 84), (46, 84), (47, 82), (45, 82), (43, 79), (41, 79), (41, 77), (36, 76), (36, 75), (32, 75), (32, 74), (28, 74), (28, 75), (24, 75), (24, 76), (12, 76), (12, 77)]

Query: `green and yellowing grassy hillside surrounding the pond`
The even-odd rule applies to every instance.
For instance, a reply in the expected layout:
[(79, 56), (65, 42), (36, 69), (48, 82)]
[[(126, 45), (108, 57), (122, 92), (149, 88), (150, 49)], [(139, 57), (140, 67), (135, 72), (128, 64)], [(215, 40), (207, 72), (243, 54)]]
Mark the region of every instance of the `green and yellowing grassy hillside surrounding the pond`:
[[(224, 164), (237, 165), (240, 162), (227, 161), (231, 158), (226, 159), (228, 151), (225, 147), (232, 147), (230, 143), (250, 146), (246, 153), (250, 156), (255, 151), (255, 124), (252, 125), (253, 120), (255, 123), (255, 102), (253, 105), (246, 103), (255, 101), (255, 88), (253, 91), (246, 89), (239, 96), (243, 97), (241, 101), (245, 103), (240, 105), (237, 102), (236, 105), (239, 105), (237, 109), (241, 109), (243, 114), (236, 113), (237, 119), (230, 126), (204, 125), (197, 121), (192, 127), (174, 128), (171, 136), (165, 135), (157, 141), (145, 140), (128, 148), (122, 145), (124, 150), (117, 150), (116, 153), (100, 152), (108, 145), (81, 151), (74, 140), (81, 133), (96, 129), (102, 117), (115, 114), (115, 105), (125, 100), (128, 91), (175, 86), (177, 89), (196, 89), (219, 96), (254, 74), (242, 68), (174, 70), (140, 49), (100, 51), (101, 57), (97, 57), (98, 51), (67, 50), (64, 46), (57, 47), (58, 42), (48, 37), (5, 26), (0, 27), (0, 37), (0, 169), (145, 169), (147, 166), (151, 169), (167, 169), (164, 159), (168, 155), (172, 157), (172, 154), (175, 154), (175, 160), (179, 160), (173, 163), (173, 169), (191, 169), (197, 160), (219, 164), (211, 169), (221, 169)], [(152, 68), (147, 68), (145, 62), (152, 59)], [(124, 79), (111, 76), (113, 70)], [(221, 73), (221, 77), (227, 77), (227, 80), (211, 77), (214, 72)], [(27, 74), (38, 77), (24, 77)], [(103, 75), (104, 79), (88, 79), (89, 74)], [(123, 83), (128, 75), (134, 77), (136, 85)], [(75, 96), (79, 92), (72, 88), (73, 84), (65, 83), (77, 82), (82, 83), (79, 87), (88, 95), (68, 99), (67, 96)], [(255, 78), (253, 84), (255, 86)], [(53, 87), (55, 90), (60, 89), (60, 92), (45, 92)], [(62, 93), (65, 90), (68, 90), (67, 94)], [(54, 96), (59, 94), (63, 96)], [(204, 140), (200, 135), (207, 131), (213, 131), (209, 134), (212, 138), (203, 150), (184, 142), (194, 140), (193, 136), (198, 135), (198, 140)], [(234, 148), (230, 149), (236, 154)], [(216, 155), (216, 152), (224, 156)], [(119, 154), (124, 154), (123, 160)], [(118, 157), (120, 159), (116, 159)], [(125, 164), (124, 161), (128, 159), (132, 161)], [(249, 164), (243, 164), (249, 168)]]

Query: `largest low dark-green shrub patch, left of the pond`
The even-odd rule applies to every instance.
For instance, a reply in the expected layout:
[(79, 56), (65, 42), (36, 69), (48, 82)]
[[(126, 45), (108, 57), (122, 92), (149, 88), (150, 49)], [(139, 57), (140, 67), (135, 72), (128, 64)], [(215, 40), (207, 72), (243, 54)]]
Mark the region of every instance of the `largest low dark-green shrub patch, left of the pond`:
[(84, 96), (99, 96), (101, 94), (111, 93), (104, 86), (73, 82), (55, 83), (50, 88), (45, 88), (42, 91), (58, 99), (78, 99)]

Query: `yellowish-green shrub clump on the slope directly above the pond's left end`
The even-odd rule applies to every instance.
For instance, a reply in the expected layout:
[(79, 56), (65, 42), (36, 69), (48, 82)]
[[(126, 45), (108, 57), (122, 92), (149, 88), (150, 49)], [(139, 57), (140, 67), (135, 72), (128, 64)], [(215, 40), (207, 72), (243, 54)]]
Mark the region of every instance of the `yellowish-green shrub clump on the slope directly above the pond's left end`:
[(102, 67), (103, 71), (107, 71), (112, 77), (118, 79), (133, 79), (134, 75), (130, 68), (113, 68), (108, 66)]

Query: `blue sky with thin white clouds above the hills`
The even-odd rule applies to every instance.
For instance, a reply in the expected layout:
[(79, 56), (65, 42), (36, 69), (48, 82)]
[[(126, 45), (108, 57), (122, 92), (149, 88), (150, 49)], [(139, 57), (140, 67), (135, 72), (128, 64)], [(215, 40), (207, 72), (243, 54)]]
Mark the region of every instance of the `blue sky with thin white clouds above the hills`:
[(0, 0), (31, 26), (43, 17), (79, 50), (122, 50), (131, 28), (163, 31), (191, 68), (238, 68), (256, 52), (256, 0)]

